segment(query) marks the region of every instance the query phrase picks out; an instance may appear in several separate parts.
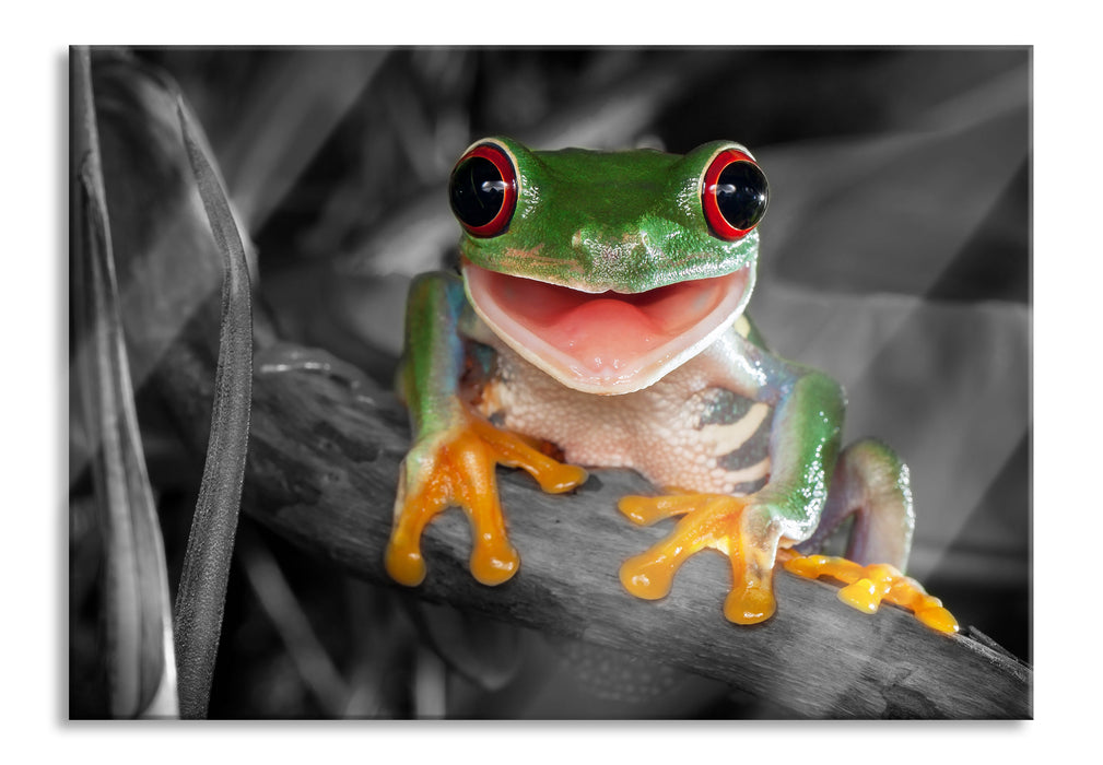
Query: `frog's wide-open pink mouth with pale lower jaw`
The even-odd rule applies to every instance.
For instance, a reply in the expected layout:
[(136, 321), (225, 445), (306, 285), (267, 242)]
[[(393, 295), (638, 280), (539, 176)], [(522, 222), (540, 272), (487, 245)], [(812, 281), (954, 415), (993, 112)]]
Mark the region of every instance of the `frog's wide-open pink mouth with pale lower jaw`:
[(646, 292), (581, 292), (464, 261), (475, 313), (524, 359), (575, 390), (630, 394), (713, 344), (739, 317), (753, 266)]

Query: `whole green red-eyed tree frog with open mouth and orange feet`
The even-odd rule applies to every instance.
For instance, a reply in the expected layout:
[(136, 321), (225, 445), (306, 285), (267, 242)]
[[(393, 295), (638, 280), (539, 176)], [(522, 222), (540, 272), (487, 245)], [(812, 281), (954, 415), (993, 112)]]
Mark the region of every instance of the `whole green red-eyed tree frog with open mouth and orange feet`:
[[(781, 563), (842, 580), (855, 608), (886, 599), (956, 631), (902, 573), (908, 466), (875, 439), (843, 448), (843, 387), (771, 352), (747, 312), (770, 196), (747, 147), (536, 150), (495, 136), (463, 151), (448, 190), (458, 268), (411, 281), (396, 374), (413, 441), (385, 552), (392, 579), (425, 580), (422, 532), (452, 506), (470, 521), (474, 579), (516, 574), (499, 465), (553, 494), (629, 468), (656, 494), (623, 497), (620, 513), (677, 519), (622, 562), (631, 595), (665, 597), (685, 560), (713, 549), (730, 561), (733, 624), (777, 612)], [(845, 556), (805, 554), (844, 521)]]

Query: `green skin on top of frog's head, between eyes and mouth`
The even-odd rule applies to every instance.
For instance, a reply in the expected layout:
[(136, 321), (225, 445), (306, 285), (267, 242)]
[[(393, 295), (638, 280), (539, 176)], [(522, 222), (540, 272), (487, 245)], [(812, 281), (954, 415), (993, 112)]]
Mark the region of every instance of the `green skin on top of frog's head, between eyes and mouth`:
[[(757, 231), (721, 241), (700, 206), (700, 175), (729, 142), (679, 157), (542, 152), (494, 140), (513, 157), (521, 193), (505, 234), (463, 235), (460, 251), (476, 266), (587, 292), (643, 292), (731, 273), (758, 257)], [(609, 249), (618, 257), (604, 257)]]

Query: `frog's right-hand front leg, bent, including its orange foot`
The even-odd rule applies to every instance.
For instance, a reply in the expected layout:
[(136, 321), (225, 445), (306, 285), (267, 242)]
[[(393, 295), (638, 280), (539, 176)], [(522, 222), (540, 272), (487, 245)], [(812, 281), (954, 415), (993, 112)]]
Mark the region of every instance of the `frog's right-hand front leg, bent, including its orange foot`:
[(774, 408), (769, 483), (745, 497), (622, 499), (621, 511), (639, 524), (684, 517), (670, 537), (624, 563), (621, 582), (640, 597), (662, 597), (688, 556), (706, 547), (718, 549), (732, 567), (725, 615), (753, 624), (775, 610), (772, 584), (779, 547), (807, 539), (818, 524), (839, 450), (843, 391), (827, 376), (772, 356), (736, 332), (706, 354), (717, 385)]

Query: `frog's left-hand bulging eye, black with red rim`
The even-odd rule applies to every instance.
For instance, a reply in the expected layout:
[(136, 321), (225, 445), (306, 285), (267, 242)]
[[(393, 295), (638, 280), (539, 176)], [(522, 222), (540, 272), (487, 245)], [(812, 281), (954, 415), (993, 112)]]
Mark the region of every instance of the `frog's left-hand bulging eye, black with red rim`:
[(493, 143), (481, 143), (460, 158), (448, 184), (452, 213), (471, 236), (504, 234), (517, 205), (517, 172)]

